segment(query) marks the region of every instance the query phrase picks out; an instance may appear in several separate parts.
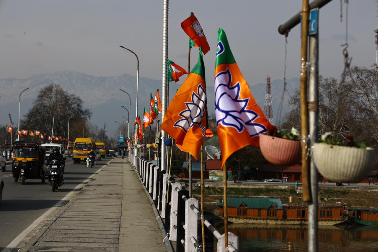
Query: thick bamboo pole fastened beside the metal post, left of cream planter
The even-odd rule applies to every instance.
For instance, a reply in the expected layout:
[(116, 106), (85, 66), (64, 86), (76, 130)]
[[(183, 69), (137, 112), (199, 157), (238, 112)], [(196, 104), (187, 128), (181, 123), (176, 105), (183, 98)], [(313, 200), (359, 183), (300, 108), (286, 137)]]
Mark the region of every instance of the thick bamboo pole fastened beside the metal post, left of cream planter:
[(310, 159), (307, 158), (308, 109), (307, 109), (307, 34), (308, 34), (308, 0), (302, 2), (302, 43), (301, 43), (301, 140), (302, 140), (302, 188), (303, 201), (311, 202)]

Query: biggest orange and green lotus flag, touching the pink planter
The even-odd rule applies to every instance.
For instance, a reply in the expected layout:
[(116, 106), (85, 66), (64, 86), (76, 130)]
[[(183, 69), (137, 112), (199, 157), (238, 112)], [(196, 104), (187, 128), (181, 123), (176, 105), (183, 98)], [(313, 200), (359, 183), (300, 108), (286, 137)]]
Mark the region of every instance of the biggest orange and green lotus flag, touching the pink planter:
[(215, 59), (215, 119), (222, 149), (222, 167), (235, 151), (259, 146), (259, 135), (276, 128), (256, 104), (228, 44), (225, 32), (218, 30)]

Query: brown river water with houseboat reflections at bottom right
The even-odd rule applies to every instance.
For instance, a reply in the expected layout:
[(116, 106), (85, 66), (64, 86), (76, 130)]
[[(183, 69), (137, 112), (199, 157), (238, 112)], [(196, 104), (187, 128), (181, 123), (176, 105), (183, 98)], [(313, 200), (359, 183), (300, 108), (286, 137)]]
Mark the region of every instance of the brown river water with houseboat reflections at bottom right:
[[(307, 251), (307, 226), (230, 224), (240, 238), (240, 252)], [(378, 227), (319, 226), (319, 251), (378, 251)]]

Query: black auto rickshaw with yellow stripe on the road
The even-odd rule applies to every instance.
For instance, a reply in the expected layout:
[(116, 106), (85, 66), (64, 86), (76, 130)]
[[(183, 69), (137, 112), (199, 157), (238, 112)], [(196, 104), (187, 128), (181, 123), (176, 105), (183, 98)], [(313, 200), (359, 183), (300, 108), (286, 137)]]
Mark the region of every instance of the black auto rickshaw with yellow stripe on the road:
[(12, 175), (14, 182), (21, 180), (25, 184), (26, 179), (40, 179), (45, 183), (46, 148), (34, 142), (17, 141), (13, 144)]

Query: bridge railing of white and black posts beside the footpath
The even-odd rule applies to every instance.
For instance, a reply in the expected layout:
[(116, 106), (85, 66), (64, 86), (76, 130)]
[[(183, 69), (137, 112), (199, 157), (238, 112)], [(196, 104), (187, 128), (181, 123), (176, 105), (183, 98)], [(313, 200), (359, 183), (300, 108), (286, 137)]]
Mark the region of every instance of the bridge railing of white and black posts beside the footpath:
[[(177, 241), (176, 252), (197, 252), (202, 249), (200, 203), (189, 198), (189, 191), (169, 177), (166, 171), (141, 157), (130, 154), (130, 163), (141, 182), (150, 194), (156, 208), (164, 218), (165, 232), (170, 241)], [(167, 188), (169, 193), (167, 194)], [(168, 198), (168, 200), (167, 200)], [(168, 202), (168, 203), (167, 203)], [(228, 232), (228, 248), (225, 248), (225, 235), (214, 228), (214, 221), (204, 215), (205, 249), (214, 251), (214, 236), (217, 238), (217, 252), (239, 251), (239, 237)], [(166, 240), (166, 238), (164, 238)]]

